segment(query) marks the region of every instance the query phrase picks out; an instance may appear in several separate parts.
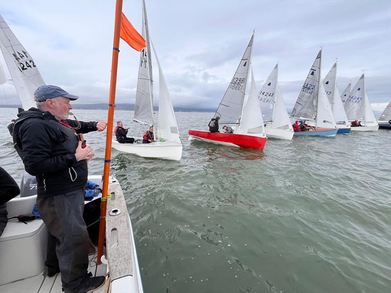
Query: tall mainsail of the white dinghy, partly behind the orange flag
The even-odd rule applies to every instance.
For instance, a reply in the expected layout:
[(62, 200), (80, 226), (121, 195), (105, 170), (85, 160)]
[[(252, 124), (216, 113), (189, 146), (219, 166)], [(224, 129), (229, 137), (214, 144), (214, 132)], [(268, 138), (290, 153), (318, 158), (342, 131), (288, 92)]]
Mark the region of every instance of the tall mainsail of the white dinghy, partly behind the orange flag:
[(152, 86), (152, 63), (151, 46), (148, 30), (147, 11), (143, 4), (142, 36), (147, 46), (140, 53), (140, 67), (138, 68), (138, 80), (136, 102), (134, 105), (134, 120), (148, 125), (153, 125), (153, 86)]

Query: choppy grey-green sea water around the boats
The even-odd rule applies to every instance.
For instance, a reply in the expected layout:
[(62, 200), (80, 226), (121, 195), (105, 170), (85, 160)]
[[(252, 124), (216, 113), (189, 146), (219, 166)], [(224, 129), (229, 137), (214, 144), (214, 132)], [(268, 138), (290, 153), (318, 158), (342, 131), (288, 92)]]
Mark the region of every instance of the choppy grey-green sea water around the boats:
[[(6, 129), (15, 113), (0, 109), (0, 164), (20, 181)], [(179, 162), (112, 152), (145, 292), (390, 292), (390, 130), (269, 140), (263, 151), (188, 141), (212, 115), (176, 113)], [(90, 174), (101, 174), (104, 135), (85, 138)]]

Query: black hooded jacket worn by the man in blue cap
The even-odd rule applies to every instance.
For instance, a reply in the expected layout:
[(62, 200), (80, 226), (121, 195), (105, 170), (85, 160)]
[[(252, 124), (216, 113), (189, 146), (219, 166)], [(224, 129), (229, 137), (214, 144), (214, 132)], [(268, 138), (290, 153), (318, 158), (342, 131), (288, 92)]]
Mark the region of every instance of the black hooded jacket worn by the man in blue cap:
[[(49, 112), (30, 108), (18, 114), (14, 126), (14, 147), (25, 170), (37, 177), (39, 197), (64, 194), (87, 183), (87, 161), (77, 162), (78, 136), (73, 129), (59, 123)], [(72, 127), (74, 120), (65, 120)], [(97, 122), (80, 121), (77, 133), (97, 130)]]

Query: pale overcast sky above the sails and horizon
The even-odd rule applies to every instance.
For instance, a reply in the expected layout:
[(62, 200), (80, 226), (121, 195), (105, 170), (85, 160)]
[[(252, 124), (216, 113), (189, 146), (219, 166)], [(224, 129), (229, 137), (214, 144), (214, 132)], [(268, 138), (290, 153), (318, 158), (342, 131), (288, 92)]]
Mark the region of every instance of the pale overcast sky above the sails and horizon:
[[(320, 47), (323, 78), (338, 58), (341, 93), (364, 70), (373, 110), (382, 111), (391, 100), (389, 0), (149, 0), (146, 6), (174, 107), (216, 108), (254, 29), (257, 90), (279, 62), (289, 112)], [(45, 83), (79, 95), (79, 104), (108, 101), (114, 11), (112, 0), (1, 0), (0, 5)], [(125, 0), (123, 12), (141, 33), (141, 1)], [(122, 40), (120, 51), (116, 103), (134, 103), (140, 53)], [(12, 82), (1, 87), (1, 104), (17, 104)]]

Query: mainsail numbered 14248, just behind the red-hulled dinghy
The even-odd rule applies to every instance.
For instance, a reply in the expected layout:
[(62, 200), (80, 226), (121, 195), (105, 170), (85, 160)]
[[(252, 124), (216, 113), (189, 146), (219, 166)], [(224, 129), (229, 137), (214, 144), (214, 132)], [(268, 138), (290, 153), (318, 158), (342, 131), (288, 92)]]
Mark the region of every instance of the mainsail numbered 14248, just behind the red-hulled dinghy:
[(274, 66), (272, 72), (258, 93), (258, 99), (261, 105), (262, 118), (264, 122), (273, 121), (273, 113), (276, 104), (276, 85), (278, 76), (278, 64)]

